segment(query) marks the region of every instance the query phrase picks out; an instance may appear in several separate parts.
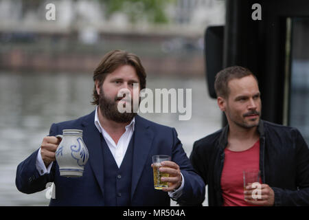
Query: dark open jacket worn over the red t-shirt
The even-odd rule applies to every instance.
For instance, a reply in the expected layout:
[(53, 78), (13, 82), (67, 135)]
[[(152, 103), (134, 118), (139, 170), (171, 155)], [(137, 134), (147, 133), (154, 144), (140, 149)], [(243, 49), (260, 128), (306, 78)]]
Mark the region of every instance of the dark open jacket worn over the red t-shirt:
[[(222, 206), (221, 174), (229, 126), (194, 142), (192, 165), (208, 184), (209, 206)], [(260, 120), (260, 170), (275, 206), (309, 205), (309, 149), (295, 128)]]

